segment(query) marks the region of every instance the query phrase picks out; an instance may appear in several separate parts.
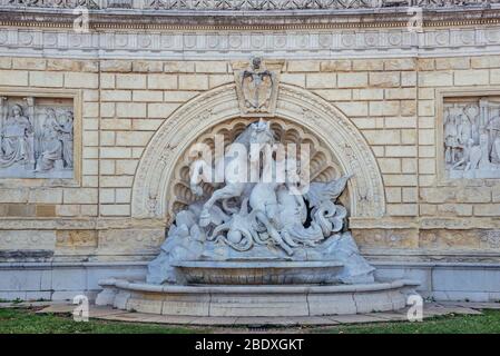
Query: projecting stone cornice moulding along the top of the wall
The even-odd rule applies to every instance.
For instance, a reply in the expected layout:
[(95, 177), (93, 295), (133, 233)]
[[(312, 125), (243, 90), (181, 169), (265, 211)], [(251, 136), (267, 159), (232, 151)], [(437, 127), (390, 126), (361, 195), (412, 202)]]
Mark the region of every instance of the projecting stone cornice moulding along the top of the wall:
[[(17, 0), (0, 0), (0, 3), (2, 1), (8, 2)], [(29, 3), (33, 1), (36, 2), (36, 0), (29, 1)], [(81, 3), (88, 0), (55, 1), (58, 3), (73, 4), (76, 2)], [(324, 1), (349, 2), (350, 0)], [(500, 2), (500, 0), (498, 1)], [(258, 1), (256, 0), (256, 2)], [(3, 27), (71, 28), (73, 26), (73, 21), (79, 16), (81, 16), (80, 12), (70, 8), (20, 8), (0, 4), (0, 26)], [(89, 10), (88, 12), (89, 28), (96, 31), (106, 29), (190, 31), (402, 28), (408, 26), (412, 16), (413, 12), (409, 12), (409, 8), (406, 7), (386, 7), (375, 9), (350, 8), (342, 10), (303, 9), (294, 11), (202, 11), (190, 9), (139, 10), (112, 8), (105, 10)], [(494, 23), (500, 23), (500, 3), (489, 4), (488, 7), (471, 6), (463, 8), (424, 8), (422, 12), (422, 26), (425, 28), (484, 26)]]

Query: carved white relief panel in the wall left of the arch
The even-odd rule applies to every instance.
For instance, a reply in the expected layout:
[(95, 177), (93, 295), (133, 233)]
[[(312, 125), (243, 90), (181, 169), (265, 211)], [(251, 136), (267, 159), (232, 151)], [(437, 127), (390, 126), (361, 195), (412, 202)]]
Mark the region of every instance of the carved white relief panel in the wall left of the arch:
[(0, 178), (73, 178), (73, 99), (0, 96)]

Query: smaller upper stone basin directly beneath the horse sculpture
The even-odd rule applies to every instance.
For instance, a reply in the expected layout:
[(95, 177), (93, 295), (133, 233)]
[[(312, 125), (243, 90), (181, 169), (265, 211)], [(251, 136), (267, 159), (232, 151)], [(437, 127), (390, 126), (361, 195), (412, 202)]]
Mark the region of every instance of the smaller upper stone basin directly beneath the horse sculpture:
[(193, 285), (303, 285), (334, 284), (343, 264), (339, 261), (177, 261), (173, 263)]

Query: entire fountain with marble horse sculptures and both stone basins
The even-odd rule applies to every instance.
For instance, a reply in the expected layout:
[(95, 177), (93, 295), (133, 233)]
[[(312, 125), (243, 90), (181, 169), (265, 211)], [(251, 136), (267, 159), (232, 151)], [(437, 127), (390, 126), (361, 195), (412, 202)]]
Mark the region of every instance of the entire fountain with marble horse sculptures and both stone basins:
[[(189, 165), (178, 211), (146, 280), (106, 279), (98, 305), (164, 315), (317, 316), (394, 310), (415, 284), (375, 280), (339, 197), (352, 176), (307, 180), (271, 121), (249, 120), (223, 155)], [(295, 147), (296, 148), (296, 147)]]

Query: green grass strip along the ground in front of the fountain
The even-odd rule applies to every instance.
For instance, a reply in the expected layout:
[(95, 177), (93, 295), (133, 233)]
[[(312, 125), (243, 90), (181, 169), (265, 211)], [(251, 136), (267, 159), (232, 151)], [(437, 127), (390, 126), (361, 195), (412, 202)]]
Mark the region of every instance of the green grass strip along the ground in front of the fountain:
[[(500, 310), (482, 310), (482, 315), (450, 315), (424, 319), (422, 323), (388, 322), (333, 327), (280, 328), (290, 333), (322, 334), (500, 334)], [(160, 324), (125, 323), (90, 319), (77, 323), (67, 314), (36, 314), (35, 309), (0, 309), (0, 334), (225, 334), (245, 329), (239, 326), (193, 327)], [(273, 333), (277, 329), (269, 328)]]

